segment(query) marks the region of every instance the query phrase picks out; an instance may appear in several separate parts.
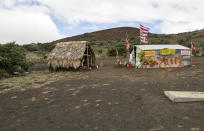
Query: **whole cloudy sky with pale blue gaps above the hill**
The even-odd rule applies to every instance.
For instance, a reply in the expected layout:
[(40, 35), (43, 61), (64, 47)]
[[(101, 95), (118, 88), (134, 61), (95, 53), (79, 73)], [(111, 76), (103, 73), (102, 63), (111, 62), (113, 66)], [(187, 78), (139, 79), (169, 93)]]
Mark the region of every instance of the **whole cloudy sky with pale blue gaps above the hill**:
[(143, 24), (151, 33), (204, 29), (203, 0), (0, 0), (0, 43), (51, 42)]

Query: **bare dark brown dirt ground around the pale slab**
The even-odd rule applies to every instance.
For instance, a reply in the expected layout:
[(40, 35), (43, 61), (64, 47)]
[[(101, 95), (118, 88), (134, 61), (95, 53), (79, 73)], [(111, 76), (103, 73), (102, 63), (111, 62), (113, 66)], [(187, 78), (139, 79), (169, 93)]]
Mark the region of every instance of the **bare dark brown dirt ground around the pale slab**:
[(163, 91), (204, 91), (204, 58), (193, 66), (47, 71), (0, 81), (1, 131), (203, 131), (204, 102), (173, 103)]

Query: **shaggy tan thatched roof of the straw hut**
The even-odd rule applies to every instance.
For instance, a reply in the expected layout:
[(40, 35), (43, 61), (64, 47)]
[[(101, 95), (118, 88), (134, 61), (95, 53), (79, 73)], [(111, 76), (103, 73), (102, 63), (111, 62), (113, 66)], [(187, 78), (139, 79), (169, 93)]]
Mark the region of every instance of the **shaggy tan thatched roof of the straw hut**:
[(48, 66), (53, 69), (58, 67), (77, 69), (81, 65), (87, 44), (87, 41), (58, 43), (48, 56)]

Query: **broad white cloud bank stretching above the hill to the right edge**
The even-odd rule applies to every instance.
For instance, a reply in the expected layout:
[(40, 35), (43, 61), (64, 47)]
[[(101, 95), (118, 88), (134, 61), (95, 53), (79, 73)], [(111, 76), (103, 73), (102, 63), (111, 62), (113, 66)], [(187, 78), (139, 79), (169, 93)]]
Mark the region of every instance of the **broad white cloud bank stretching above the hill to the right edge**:
[(38, 2), (50, 7), (58, 19), (75, 25), (82, 22), (111, 24), (124, 21), (158, 24), (156, 21), (162, 21), (160, 25), (155, 25), (161, 28), (162, 33), (204, 28), (202, 0), (194, 2), (191, 0), (38, 0)]

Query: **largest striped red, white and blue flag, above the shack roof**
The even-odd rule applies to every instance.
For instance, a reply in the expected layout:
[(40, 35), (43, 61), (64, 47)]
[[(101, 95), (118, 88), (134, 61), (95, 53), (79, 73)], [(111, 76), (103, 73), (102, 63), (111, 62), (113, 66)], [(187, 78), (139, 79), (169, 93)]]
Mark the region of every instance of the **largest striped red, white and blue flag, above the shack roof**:
[(144, 27), (140, 24), (140, 41), (143, 44), (148, 44), (147, 35), (149, 33), (150, 28)]

